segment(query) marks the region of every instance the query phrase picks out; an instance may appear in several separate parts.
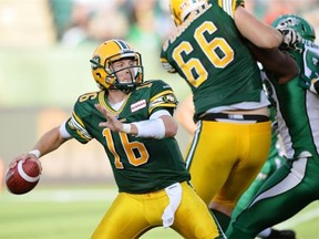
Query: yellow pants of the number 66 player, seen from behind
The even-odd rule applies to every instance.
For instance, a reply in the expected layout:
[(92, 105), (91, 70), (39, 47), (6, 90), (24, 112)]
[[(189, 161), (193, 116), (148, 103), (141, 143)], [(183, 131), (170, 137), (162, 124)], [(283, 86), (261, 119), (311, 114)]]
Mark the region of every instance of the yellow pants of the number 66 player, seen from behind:
[(234, 209), (268, 157), (270, 122), (200, 121), (186, 156), (198, 196)]

